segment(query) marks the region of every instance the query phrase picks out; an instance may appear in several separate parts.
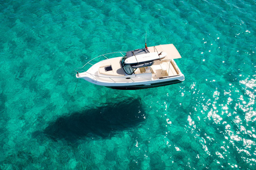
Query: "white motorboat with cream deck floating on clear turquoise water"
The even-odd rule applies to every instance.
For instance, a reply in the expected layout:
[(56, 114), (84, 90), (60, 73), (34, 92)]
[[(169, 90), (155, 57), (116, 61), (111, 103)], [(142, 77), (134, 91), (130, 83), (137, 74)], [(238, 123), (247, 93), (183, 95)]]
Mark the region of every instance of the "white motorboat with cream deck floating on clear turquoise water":
[[(99, 58), (104, 60), (99, 60)], [(103, 54), (76, 69), (76, 78), (112, 89), (146, 89), (185, 80), (174, 59), (181, 58), (173, 44), (128, 52)], [(92, 64), (96, 62), (95, 64)], [(86, 66), (90, 66), (85, 71)]]

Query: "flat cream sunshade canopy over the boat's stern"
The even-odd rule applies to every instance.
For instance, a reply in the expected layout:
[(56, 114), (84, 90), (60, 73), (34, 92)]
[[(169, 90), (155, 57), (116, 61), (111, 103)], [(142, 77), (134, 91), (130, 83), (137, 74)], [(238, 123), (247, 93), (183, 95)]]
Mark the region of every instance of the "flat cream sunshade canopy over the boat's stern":
[(167, 56), (164, 58), (164, 60), (171, 60), (176, 58), (181, 58), (180, 53), (178, 50), (174, 47), (173, 44), (165, 44), (165, 45), (158, 45), (153, 47), (148, 47), (148, 50), (150, 53), (154, 52), (165, 52), (167, 53)]

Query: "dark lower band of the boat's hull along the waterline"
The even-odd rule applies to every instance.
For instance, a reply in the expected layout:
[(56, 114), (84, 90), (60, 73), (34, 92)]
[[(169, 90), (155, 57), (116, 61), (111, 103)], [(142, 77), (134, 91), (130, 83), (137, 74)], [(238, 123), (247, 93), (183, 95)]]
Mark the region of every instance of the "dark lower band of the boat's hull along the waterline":
[(154, 87), (160, 87), (160, 86), (167, 86), (170, 84), (176, 84), (180, 83), (182, 81), (180, 80), (173, 80), (173, 81), (168, 81), (168, 82), (159, 82), (159, 83), (154, 83), (148, 86), (145, 85), (136, 85), (136, 86), (106, 86), (107, 88), (111, 89), (118, 89), (118, 90), (138, 90), (138, 89), (148, 89), (148, 88), (154, 88)]

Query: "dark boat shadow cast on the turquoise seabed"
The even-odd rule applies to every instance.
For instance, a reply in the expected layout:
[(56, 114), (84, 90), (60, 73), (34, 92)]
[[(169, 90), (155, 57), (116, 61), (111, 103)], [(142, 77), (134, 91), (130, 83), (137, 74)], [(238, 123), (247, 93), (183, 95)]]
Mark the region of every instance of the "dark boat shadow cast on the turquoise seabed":
[(126, 98), (116, 104), (106, 104), (60, 117), (45, 128), (44, 134), (53, 140), (65, 139), (67, 142), (76, 142), (85, 137), (109, 138), (118, 131), (140, 125), (145, 121), (145, 116), (140, 98)]

